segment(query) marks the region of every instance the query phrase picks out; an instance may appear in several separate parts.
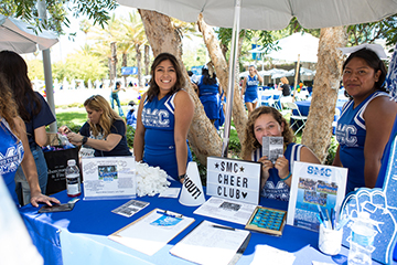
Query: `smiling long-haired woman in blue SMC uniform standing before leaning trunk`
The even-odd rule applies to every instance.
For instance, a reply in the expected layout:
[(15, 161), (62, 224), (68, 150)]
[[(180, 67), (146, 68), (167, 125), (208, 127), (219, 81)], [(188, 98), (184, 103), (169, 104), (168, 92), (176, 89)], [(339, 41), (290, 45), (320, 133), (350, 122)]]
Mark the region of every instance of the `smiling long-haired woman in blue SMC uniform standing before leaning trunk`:
[(151, 66), (149, 89), (138, 108), (133, 152), (137, 161), (160, 167), (183, 182), (192, 155), (186, 142), (194, 104), (174, 55), (161, 53)]

